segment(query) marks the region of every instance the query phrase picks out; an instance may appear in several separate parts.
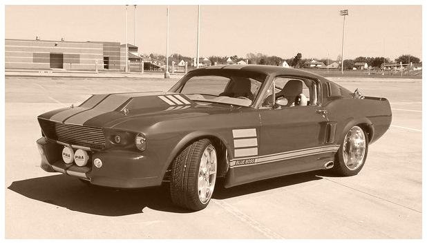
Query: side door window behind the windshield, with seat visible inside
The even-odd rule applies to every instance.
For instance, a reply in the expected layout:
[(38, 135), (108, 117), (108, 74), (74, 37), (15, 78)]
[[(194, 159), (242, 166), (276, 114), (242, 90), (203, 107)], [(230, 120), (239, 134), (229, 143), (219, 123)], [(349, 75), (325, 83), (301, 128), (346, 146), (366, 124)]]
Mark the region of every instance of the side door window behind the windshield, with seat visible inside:
[(283, 108), (291, 108), (317, 104), (316, 83), (310, 79), (276, 77), (273, 84), (275, 101), (273, 88), (269, 88), (263, 101), (264, 107), (277, 104)]

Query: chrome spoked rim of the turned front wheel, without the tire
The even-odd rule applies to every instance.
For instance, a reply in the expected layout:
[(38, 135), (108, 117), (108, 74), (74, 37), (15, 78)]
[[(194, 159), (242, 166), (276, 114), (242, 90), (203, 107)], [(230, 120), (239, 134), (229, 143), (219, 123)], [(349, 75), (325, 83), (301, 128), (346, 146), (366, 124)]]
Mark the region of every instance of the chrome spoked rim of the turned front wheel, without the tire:
[(213, 145), (208, 145), (200, 159), (198, 173), (198, 194), (201, 203), (211, 199), (216, 180), (216, 151)]

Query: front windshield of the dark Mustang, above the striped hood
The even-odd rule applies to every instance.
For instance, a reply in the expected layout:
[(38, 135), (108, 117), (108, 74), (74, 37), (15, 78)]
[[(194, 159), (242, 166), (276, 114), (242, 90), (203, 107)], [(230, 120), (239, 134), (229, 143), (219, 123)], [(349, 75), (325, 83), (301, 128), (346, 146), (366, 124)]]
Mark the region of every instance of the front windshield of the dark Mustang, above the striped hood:
[(193, 101), (249, 106), (265, 81), (264, 74), (248, 72), (205, 72), (189, 74), (171, 92), (180, 92)]

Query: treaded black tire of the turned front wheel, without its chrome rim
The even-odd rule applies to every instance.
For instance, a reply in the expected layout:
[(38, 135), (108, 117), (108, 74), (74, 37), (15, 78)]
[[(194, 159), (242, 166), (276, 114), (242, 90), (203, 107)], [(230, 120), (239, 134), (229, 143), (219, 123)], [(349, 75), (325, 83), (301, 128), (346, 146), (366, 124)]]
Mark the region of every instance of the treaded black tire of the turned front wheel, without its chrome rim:
[(188, 210), (202, 210), (208, 204), (202, 203), (198, 193), (200, 159), (205, 149), (212, 145), (209, 139), (201, 139), (187, 146), (172, 162), (171, 200), (175, 205)]

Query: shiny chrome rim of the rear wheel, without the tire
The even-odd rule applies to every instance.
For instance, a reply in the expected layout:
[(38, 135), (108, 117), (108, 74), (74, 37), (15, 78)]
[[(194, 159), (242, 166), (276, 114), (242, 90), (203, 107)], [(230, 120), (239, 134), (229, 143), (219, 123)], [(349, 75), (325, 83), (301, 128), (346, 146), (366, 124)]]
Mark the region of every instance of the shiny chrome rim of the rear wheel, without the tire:
[(353, 126), (343, 142), (343, 161), (349, 170), (357, 170), (365, 159), (366, 137), (359, 126)]

